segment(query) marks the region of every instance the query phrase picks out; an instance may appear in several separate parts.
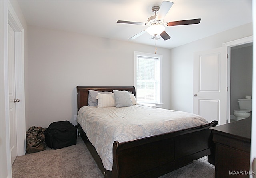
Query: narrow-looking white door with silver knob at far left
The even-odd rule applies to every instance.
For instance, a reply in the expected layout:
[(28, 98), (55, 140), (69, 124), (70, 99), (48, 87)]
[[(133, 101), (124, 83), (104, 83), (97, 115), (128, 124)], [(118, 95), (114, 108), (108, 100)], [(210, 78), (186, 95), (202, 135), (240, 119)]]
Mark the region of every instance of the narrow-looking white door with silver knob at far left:
[(17, 157), (14, 30), (8, 25), (9, 115), (12, 164)]

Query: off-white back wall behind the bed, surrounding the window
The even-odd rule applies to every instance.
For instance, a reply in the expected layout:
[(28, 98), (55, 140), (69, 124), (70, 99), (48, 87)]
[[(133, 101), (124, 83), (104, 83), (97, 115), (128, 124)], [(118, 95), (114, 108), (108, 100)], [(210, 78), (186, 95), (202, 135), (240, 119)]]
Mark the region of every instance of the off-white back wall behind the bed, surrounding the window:
[[(76, 86), (133, 86), (134, 51), (155, 47), (28, 27), (26, 127), (69, 120), (76, 124)], [(163, 108), (169, 108), (170, 50), (163, 55)]]

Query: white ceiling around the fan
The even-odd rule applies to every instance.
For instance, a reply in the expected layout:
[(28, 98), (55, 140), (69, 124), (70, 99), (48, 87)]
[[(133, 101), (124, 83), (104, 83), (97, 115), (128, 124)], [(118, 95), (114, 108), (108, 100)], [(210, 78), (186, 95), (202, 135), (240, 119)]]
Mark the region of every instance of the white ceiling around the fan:
[(252, 22), (251, 0), (172, 0), (164, 22), (201, 18), (198, 25), (166, 27), (171, 39), (150, 39), (146, 26), (116, 23), (147, 22), (152, 6), (162, 0), (18, 0), (28, 25), (82, 33), (171, 49)]

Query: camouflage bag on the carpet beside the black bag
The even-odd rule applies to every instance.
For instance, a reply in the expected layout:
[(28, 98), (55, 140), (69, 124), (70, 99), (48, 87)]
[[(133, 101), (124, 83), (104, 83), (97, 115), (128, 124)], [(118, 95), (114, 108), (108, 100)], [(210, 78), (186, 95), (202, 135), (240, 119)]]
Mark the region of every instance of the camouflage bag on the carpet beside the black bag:
[(26, 152), (35, 153), (46, 149), (44, 132), (47, 128), (32, 126), (26, 131)]

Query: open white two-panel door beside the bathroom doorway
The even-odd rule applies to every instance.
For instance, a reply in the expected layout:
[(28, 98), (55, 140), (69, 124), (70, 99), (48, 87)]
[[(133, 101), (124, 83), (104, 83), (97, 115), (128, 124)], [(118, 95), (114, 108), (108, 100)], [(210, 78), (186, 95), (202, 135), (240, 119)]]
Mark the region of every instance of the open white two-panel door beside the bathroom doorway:
[(227, 48), (194, 53), (193, 112), (227, 123)]

